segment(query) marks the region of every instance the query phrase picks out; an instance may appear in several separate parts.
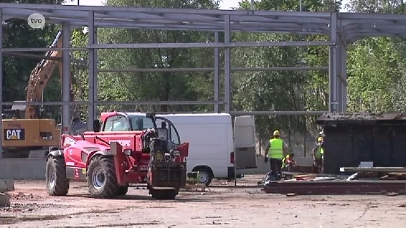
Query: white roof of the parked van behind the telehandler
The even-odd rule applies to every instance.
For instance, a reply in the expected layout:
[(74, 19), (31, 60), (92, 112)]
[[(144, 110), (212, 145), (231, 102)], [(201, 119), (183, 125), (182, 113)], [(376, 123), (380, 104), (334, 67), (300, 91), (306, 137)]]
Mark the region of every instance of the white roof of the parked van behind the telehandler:
[(229, 113), (181, 113), (181, 114), (157, 114), (172, 122), (183, 124), (229, 124), (231, 115)]

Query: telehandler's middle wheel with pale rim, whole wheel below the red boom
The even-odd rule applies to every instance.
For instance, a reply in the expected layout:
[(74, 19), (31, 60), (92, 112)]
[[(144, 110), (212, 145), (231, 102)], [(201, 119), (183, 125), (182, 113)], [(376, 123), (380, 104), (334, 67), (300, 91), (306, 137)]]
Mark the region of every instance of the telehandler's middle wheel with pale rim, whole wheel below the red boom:
[(87, 173), (87, 186), (94, 198), (114, 198), (117, 196), (117, 184), (114, 158), (97, 156), (90, 161)]

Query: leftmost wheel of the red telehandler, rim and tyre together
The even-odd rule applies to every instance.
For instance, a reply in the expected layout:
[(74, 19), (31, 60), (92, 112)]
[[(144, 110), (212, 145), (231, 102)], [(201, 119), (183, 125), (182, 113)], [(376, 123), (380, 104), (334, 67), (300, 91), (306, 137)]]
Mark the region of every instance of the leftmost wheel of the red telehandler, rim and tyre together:
[(45, 183), (51, 196), (66, 196), (69, 191), (69, 179), (66, 177), (66, 165), (63, 157), (49, 157), (45, 167)]

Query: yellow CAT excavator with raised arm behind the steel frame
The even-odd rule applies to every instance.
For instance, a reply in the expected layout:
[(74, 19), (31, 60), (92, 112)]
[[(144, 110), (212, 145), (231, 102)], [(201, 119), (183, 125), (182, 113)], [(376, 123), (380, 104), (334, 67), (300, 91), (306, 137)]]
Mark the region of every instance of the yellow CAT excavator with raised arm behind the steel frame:
[[(62, 47), (62, 41), (62, 31), (59, 31), (50, 48)], [(46, 58), (32, 70), (26, 90), (26, 102), (43, 101), (44, 88), (56, 66), (62, 79), (62, 53), (47, 51)], [(59, 146), (61, 129), (54, 119), (44, 118), (43, 108), (39, 105), (18, 103), (15, 102), (11, 109), (3, 110), (2, 113), (3, 158), (44, 158), (49, 147)], [(86, 126), (78, 118), (71, 120), (71, 127), (76, 131), (74, 133), (85, 131)]]

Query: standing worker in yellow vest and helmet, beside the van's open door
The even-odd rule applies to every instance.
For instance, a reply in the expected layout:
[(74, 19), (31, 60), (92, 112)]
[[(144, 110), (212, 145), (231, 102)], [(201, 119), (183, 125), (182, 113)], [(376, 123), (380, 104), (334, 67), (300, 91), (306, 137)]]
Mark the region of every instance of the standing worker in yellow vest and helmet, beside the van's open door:
[(268, 155), (270, 158), (270, 175), (276, 180), (282, 179), (282, 160), (287, 154), (287, 146), (280, 138), (278, 130), (274, 131), (273, 138), (269, 140), (265, 151), (268, 151), (265, 153), (265, 163), (268, 162)]

